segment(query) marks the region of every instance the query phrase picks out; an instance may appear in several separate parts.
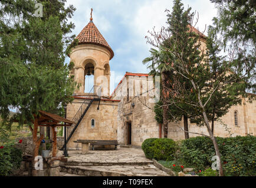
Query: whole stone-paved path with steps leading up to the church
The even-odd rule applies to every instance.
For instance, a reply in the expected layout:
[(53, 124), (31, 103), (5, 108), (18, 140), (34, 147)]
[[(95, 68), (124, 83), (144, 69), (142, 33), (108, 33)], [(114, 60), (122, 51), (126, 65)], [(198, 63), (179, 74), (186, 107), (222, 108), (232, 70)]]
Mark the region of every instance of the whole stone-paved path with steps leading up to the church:
[(169, 176), (146, 159), (142, 149), (90, 150), (86, 155), (69, 151), (67, 162), (61, 164), (62, 174), (81, 176)]

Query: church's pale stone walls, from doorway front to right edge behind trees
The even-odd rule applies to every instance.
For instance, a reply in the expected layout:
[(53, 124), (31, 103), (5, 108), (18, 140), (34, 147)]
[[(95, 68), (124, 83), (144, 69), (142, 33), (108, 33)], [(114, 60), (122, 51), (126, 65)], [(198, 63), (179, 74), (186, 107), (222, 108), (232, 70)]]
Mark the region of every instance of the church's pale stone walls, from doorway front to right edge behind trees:
[[(142, 142), (149, 137), (159, 137), (159, 123), (155, 120), (155, 112), (153, 112), (154, 103), (148, 103), (149, 97), (130, 97), (121, 96), (120, 93), (126, 90), (123, 85), (129, 85), (129, 78), (120, 84), (116, 89), (113, 99), (119, 99), (117, 113), (117, 137), (118, 142), (127, 145), (127, 122), (132, 123), (132, 145), (141, 146)], [(253, 95), (255, 96), (255, 95)], [(132, 103), (134, 106), (132, 106)], [(150, 108), (147, 108), (145, 104)], [(238, 113), (238, 126), (235, 126), (234, 112)], [(247, 134), (256, 136), (256, 100), (252, 103), (248, 99), (242, 99), (241, 105), (232, 106), (229, 112), (221, 118), (221, 122), (215, 122), (214, 135), (220, 137), (228, 136), (245, 136)], [(201, 133), (209, 135), (205, 126), (197, 126), (189, 123), (189, 132)], [(183, 120), (178, 123), (170, 122), (168, 124), (168, 137), (173, 140), (183, 140), (185, 135), (183, 132)], [(189, 133), (189, 137), (201, 136)], [(163, 137), (163, 127), (162, 127)]]

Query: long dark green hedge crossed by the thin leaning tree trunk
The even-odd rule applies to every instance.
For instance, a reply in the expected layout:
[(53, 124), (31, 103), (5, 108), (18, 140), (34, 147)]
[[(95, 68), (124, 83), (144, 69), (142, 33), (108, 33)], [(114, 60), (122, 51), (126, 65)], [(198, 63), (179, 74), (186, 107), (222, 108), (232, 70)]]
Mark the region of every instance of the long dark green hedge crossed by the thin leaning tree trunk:
[[(255, 136), (216, 137), (226, 176), (256, 176)], [(180, 158), (196, 170), (204, 170), (212, 165), (215, 156), (214, 145), (208, 137), (192, 137), (183, 140), (180, 146)]]

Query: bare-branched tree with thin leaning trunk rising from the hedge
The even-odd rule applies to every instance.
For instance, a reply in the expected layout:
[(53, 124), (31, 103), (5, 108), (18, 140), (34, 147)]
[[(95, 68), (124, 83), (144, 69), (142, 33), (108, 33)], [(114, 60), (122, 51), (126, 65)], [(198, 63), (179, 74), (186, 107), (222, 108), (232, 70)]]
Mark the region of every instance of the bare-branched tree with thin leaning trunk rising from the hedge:
[[(183, 6), (179, 0), (175, 1), (175, 5)], [(171, 96), (169, 104), (172, 105), (178, 101), (190, 105), (194, 109), (193, 113), (189, 111), (190, 115), (200, 116), (204, 120), (204, 125), (214, 144), (216, 156), (221, 159), (218, 144), (209, 125), (208, 103), (213, 100), (216, 91), (228, 92), (227, 88), (230, 85), (247, 86), (246, 81), (251, 76), (248, 74), (250, 65), (247, 62), (237, 61), (234, 51), (231, 51), (229, 59), (220, 63), (222, 72), (217, 73), (216, 78), (212, 79), (211, 66), (209, 66), (209, 62), (204, 61), (206, 49), (201, 45), (205, 36), (194, 29), (198, 18), (193, 24), (195, 13), (190, 13), (190, 9), (181, 17), (181, 20), (184, 20), (182, 22), (168, 14), (170, 22), (168, 28), (162, 27), (160, 32), (150, 32), (151, 37), (147, 37), (147, 42), (158, 48), (159, 53), (173, 57), (166, 62), (173, 72), (172, 87), (167, 90)], [(185, 25), (185, 23), (188, 24)], [(189, 56), (186, 56), (187, 53)], [(191, 84), (191, 89), (186, 88), (184, 80), (189, 82), (188, 85)], [(223, 176), (221, 162), (219, 163), (219, 176)]]

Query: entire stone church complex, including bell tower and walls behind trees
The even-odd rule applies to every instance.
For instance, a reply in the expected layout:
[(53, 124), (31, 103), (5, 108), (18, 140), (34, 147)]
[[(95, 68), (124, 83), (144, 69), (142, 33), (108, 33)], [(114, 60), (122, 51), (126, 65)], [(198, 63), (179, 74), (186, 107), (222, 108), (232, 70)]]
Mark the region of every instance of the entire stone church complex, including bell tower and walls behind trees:
[[(206, 48), (205, 38), (201, 41), (202, 48)], [(74, 101), (67, 106), (67, 119), (76, 122), (68, 128), (67, 148), (80, 149), (81, 143), (74, 142), (78, 139), (118, 140), (121, 145), (141, 146), (149, 137), (163, 137), (162, 125), (156, 122), (153, 112), (155, 103), (150, 102), (152, 92), (155, 92), (150, 76), (126, 72), (110, 96), (110, 60), (114, 52), (94, 25), (92, 17), (77, 39), (78, 46), (70, 53), (70, 62), (74, 63), (70, 75), (74, 75), (80, 88), (74, 93)], [(94, 86), (91, 92), (85, 92), (84, 83), (89, 78), (93, 78)], [(130, 84), (133, 84), (132, 89)], [(222, 117), (222, 123), (215, 122), (214, 134), (222, 137), (255, 135), (255, 117), (256, 100), (249, 103), (242, 99), (242, 105), (232, 106)], [(182, 125), (183, 121), (169, 123), (168, 137), (184, 139)], [(206, 127), (190, 122), (189, 132), (208, 135)], [(189, 133), (189, 136), (198, 135)]]

